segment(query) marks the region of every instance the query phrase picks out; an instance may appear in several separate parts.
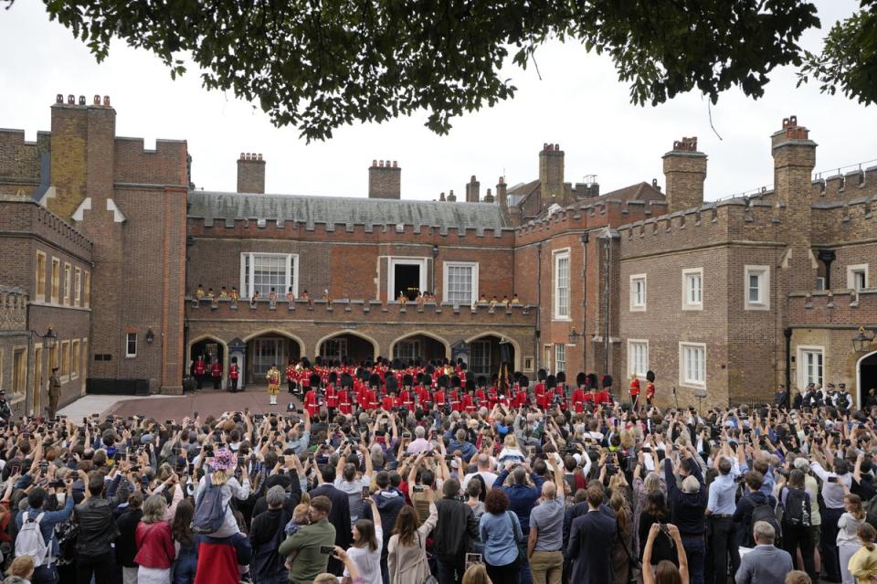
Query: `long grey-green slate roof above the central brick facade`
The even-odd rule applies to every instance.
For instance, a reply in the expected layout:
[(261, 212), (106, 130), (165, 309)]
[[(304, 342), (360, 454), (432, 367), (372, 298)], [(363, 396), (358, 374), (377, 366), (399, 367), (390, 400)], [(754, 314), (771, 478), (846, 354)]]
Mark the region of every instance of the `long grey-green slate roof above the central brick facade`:
[(496, 203), (376, 199), (354, 196), (251, 195), (189, 191), (191, 218), (283, 219), (305, 225), (420, 225), (445, 228), (511, 228)]

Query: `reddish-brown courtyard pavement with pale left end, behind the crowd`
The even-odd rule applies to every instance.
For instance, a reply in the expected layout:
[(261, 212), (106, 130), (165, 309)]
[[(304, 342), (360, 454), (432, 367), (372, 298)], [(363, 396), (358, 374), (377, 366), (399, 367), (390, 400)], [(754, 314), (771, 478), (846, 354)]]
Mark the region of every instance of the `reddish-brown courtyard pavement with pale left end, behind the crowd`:
[[(248, 408), (253, 413), (284, 412), (287, 404), (293, 401), (289, 393), (281, 391), (278, 395), (278, 404), (269, 405), (269, 396), (266, 386), (248, 386), (246, 391), (229, 393), (215, 389), (201, 389), (195, 393), (187, 393), (184, 396), (161, 396), (154, 395), (147, 398), (133, 396), (85, 396), (79, 398), (58, 413), (66, 414), (72, 419), (81, 419), (92, 413), (100, 413), (102, 416), (119, 415), (134, 416), (143, 414), (154, 419), (180, 420), (188, 416), (192, 418), (195, 411), (201, 419), (206, 416), (221, 414), (224, 411), (243, 411)], [(301, 407), (301, 402), (294, 399), (296, 407)]]

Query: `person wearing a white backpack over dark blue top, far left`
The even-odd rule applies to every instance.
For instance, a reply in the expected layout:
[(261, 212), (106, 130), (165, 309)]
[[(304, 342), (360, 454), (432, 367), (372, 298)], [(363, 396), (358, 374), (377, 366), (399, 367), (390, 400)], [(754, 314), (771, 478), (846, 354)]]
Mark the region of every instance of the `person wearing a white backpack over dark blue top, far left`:
[[(58, 487), (51, 487), (54, 491)], [(53, 537), (55, 526), (67, 521), (73, 514), (73, 481), (65, 483), (64, 507), (58, 511), (46, 511), (46, 491), (35, 487), (27, 495), (27, 508), (16, 516), (18, 535), (16, 536), (16, 557), (34, 558), (34, 584), (54, 584), (58, 581), (55, 557), (58, 556), (58, 541)]]

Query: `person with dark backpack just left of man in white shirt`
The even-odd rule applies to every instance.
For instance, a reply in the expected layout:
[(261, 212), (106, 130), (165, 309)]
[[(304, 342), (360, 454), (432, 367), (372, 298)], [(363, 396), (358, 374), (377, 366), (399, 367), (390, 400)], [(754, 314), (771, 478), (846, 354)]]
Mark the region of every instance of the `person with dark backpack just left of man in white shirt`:
[(804, 570), (814, 582), (819, 581), (819, 574), (813, 561), (815, 542), (810, 534), (813, 507), (810, 494), (804, 486), (805, 475), (798, 469), (788, 473), (788, 483), (779, 483), (779, 504), (783, 508), (783, 549), (791, 557), (797, 557), (798, 550), (804, 559)]

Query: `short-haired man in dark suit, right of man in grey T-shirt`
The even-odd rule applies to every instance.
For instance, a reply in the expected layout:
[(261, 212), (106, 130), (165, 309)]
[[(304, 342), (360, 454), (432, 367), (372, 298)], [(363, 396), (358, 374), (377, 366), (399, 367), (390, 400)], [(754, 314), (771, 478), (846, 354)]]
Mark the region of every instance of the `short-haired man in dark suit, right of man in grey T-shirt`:
[(592, 483), (587, 488), (587, 513), (576, 517), (570, 529), (566, 556), (574, 558), (572, 578), (576, 584), (605, 584), (614, 579), (612, 557), (615, 545), (615, 520), (600, 513), (603, 486)]

